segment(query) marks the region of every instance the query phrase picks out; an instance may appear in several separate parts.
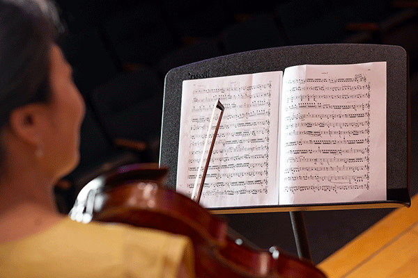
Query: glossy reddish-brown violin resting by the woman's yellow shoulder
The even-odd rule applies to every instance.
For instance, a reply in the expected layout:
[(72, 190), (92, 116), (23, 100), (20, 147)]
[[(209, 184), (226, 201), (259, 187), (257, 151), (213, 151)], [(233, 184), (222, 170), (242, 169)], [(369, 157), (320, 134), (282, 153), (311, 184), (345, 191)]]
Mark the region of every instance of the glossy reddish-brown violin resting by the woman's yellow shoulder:
[(167, 169), (125, 165), (107, 174), (104, 202), (93, 220), (121, 222), (188, 236), (194, 245), (196, 277), (325, 278), (309, 261), (278, 247), (262, 250), (228, 227), (225, 220), (169, 188)]

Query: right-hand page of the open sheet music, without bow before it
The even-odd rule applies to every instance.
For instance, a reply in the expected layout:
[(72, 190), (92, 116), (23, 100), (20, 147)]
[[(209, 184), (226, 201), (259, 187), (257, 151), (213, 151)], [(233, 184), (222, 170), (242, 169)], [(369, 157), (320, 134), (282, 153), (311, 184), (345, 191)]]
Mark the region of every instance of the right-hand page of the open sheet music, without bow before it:
[(284, 71), (279, 204), (386, 199), (386, 62)]

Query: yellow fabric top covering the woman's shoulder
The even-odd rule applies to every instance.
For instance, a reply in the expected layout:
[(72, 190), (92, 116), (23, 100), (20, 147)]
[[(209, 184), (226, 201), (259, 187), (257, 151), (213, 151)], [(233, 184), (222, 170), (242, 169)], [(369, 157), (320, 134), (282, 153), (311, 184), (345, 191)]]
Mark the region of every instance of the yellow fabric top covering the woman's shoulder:
[(20, 265), (13, 271), (21, 275), (14, 277), (31, 277), (24, 272), (28, 269), (38, 277), (68, 277), (68, 272), (75, 277), (104, 273), (118, 277), (122, 272), (132, 277), (175, 277), (184, 259), (193, 267), (192, 244), (184, 236), (123, 224), (83, 224), (70, 218), (42, 233), (0, 245), (0, 256), (4, 258), (0, 274), (2, 263)]

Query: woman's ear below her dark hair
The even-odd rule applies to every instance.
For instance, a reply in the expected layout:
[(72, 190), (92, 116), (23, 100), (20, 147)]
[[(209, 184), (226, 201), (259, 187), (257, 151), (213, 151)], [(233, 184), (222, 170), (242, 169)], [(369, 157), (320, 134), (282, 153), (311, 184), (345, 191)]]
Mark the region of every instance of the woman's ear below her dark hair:
[(28, 104), (10, 113), (10, 131), (22, 141), (37, 147), (41, 140), (45, 122), (45, 108), (42, 104)]

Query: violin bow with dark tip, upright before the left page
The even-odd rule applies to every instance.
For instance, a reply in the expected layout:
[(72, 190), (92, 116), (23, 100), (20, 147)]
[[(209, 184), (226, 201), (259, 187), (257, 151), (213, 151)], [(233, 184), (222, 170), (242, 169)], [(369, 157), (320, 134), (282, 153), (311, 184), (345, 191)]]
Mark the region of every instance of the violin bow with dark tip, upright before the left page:
[(213, 133), (212, 143), (210, 144), (210, 149), (209, 149), (209, 152), (208, 152), (208, 159), (206, 160), (206, 165), (205, 165), (205, 168), (203, 169), (201, 184), (199, 186), (199, 193), (197, 193), (197, 197), (196, 197), (196, 203), (197, 204), (199, 204), (199, 202), (200, 202), (200, 198), (201, 198), (202, 190), (203, 190), (203, 184), (205, 183), (206, 173), (208, 172), (210, 156), (212, 156), (212, 151), (213, 151), (213, 146), (215, 145), (215, 139), (216, 139), (216, 136), (217, 136), (217, 131), (219, 129), (219, 124), (221, 124), (222, 115), (224, 114), (224, 109), (225, 108), (221, 104), (221, 101), (219, 101), (219, 99), (217, 100), (217, 103), (213, 107), (212, 117), (210, 117), (209, 130), (208, 130), (208, 134), (206, 135), (205, 145), (203, 146), (203, 152), (202, 152), (201, 160), (200, 160), (200, 163), (199, 163), (199, 170), (197, 170), (196, 179), (194, 181), (194, 186), (193, 186), (193, 192), (192, 192), (191, 199), (194, 199), (194, 195), (196, 194), (197, 182), (198, 182), (199, 175), (200, 175), (200, 172), (201, 172), (201, 168), (202, 168), (202, 164), (203, 164), (203, 158), (204, 158), (205, 152), (206, 152), (206, 147), (208, 146), (208, 140), (209, 140), (209, 136), (210, 136), (210, 129), (212, 129), (212, 122), (213, 122), (213, 118), (215, 117), (216, 108), (218, 108), (221, 111), (221, 113), (219, 114), (219, 119), (218, 119), (218, 122), (217, 122), (217, 125), (216, 125), (216, 128), (215, 128), (215, 132)]

